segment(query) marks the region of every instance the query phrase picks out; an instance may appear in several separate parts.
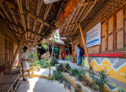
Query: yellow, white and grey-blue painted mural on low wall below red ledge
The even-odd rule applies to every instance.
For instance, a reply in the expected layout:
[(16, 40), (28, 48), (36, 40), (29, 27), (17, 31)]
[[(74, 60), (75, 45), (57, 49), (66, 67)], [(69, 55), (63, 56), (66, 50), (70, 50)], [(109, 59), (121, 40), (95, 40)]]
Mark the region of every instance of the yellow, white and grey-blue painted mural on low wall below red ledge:
[[(83, 64), (89, 67), (87, 58), (83, 58)], [(108, 76), (120, 82), (126, 83), (126, 59), (125, 58), (104, 58), (90, 57), (91, 66), (95, 71), (104, 69)]]

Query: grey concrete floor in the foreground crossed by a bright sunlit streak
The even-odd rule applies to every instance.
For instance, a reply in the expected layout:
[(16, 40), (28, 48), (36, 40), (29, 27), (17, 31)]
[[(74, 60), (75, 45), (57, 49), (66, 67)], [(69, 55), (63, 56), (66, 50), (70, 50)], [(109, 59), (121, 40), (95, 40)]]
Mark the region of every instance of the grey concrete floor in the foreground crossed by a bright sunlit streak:
[(21, 81), (17, 92), (68, 92), (64, 86), (56, 81), (43, 78), (31, 78), (28, 81)]

